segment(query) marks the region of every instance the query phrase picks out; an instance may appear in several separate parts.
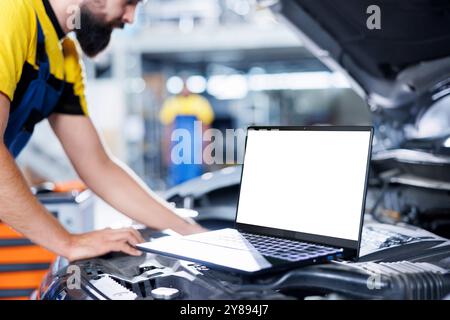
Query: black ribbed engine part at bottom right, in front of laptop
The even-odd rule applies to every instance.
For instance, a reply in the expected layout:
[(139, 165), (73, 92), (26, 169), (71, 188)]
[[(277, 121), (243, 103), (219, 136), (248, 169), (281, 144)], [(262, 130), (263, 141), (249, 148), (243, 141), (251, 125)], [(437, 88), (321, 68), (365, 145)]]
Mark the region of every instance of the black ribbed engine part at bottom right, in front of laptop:
[(450, 274), (428, 263), (361, 263), (312, 266), (295, 270), (265, 285), (238, 291), (337, 293), (356, 299), (442, 299), (450, 293)]

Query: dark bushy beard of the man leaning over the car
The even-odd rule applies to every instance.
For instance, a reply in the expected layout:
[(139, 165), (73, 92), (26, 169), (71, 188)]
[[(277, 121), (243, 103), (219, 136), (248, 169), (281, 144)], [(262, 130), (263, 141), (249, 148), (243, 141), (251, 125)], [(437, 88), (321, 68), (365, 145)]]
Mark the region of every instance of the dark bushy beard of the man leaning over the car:
[(81, 28), (75, 29), (75, 34), (83, 52), (93, 58), (106, 49), (114, 28), (101, 21), (87, 7), (81, 7), (80, 22)]

